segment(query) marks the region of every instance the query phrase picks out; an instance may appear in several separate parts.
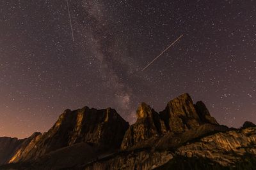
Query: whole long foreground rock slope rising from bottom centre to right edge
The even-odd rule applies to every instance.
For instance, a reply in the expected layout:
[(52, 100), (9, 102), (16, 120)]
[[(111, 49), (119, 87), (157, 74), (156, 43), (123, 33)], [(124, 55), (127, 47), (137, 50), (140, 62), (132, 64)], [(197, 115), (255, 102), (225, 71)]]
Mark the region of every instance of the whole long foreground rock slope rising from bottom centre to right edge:
[[(165, 151), (163, 148), (161, 150), (143, 148), (142, 150), (119, 153), (113, 157), (100, 159), (90, 164), (77, 167), (76, 169), (179, 168), (227, 170), (230, 167), (230, 169), (249, 170), (255, 168), (256, 159), (252, 159), (248, 163), (245, 162), (237, 167), (236, 164), (237, 162), (243, 162), (246, 155), (250, 155), (249, 159), (256, 157), (255, 132), (256, 127), (217, 132), (205, 138), (187, 141), (186, 144), (177, 149), (175, 149), (175, 147), (172, 148), (172, 150), (174, 150), (173, 152), (168, 150), (168, 148), (165, 148)], [(181, 160), (185, 158), (194, 159), (194, 161), (191, 162), (191, 160), (188, 159), (182, 162)], [(248, 157), (246, 158), (248, 159)], [(166, 166), (170, 164), (170, 162), (172, 162), (172, 164)], [(207, 164), (209, 165), (207, 166)]]

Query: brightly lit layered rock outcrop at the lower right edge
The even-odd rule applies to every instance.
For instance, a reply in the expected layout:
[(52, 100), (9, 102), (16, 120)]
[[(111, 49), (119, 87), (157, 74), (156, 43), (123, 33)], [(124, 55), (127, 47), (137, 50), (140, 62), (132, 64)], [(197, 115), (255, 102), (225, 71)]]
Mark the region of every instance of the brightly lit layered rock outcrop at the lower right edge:
[(249, 127), (207, 136), (195, 143), (181, 146), (176, 153), (186, 157), (207, 158), (222, 166), (234, 165), (245, 154), (256, 157), (256, 128)]

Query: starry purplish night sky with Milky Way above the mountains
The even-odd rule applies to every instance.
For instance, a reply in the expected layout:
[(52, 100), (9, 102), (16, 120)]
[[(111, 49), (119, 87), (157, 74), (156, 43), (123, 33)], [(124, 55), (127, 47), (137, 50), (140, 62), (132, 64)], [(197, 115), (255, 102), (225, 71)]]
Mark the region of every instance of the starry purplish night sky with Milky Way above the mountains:
[[(184, 92), (220, 124), (256, 123), (256, 1), (1, 0), (0, 136), (63, 113), (115, 108), (130, 123)], [(175, 45), (143, 67), (180, 35)]]

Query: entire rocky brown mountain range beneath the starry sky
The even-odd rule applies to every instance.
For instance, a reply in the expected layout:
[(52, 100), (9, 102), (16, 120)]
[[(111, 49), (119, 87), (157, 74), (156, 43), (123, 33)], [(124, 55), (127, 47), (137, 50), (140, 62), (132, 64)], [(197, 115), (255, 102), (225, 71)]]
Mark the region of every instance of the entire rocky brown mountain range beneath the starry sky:
[(129, 125), (115, 110), (65, 110), (49, 131), (0, 138), (0, 169), (253, 169), (256, 127), (220, 125), (188, 94)]

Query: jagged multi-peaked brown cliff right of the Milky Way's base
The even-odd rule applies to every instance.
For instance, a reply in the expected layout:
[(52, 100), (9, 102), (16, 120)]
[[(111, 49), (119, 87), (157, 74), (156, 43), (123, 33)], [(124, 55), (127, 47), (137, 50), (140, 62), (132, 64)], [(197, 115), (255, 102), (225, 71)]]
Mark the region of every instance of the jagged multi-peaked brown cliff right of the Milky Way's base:
[(141, 103), (137, 110), (138, 119), (125, 133), (122, 150), (141, 143), (146, 139), (163, 134), (181, 134), (182, 132), (196, 129), (202, 124), (218, 125), (215, 118), (211, 117), (205, 104), (193, 104), (188, 94), (170, 101), (165, 110), (157, 113), (150, 106)]

